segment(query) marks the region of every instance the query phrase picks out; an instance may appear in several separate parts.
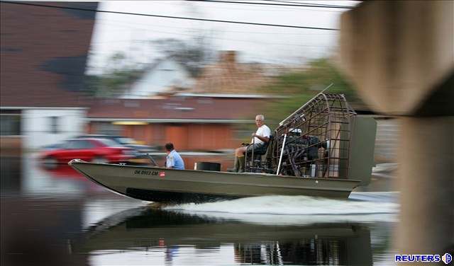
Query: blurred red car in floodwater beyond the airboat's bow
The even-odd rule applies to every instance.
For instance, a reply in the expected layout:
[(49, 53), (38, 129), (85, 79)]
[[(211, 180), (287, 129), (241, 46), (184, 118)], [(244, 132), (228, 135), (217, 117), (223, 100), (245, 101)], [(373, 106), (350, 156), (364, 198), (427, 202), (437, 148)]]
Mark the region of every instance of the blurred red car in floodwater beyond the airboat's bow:
[(58, 149), (43, 151), (43, 163), (67, 163), (74, 158), (94, 163), (118, 163), (135, 157), (135, 151), (110, 139), (69, 139)]

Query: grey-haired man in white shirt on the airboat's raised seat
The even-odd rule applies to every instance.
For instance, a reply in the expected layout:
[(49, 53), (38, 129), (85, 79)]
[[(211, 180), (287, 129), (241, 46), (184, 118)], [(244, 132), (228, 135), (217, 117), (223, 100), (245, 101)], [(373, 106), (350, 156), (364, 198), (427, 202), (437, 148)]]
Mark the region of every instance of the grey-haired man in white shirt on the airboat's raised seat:
[(251, 140), (252, 143), (249, 146), (243, 146), (235, 150), (235, 168), (233, 169), (234, 172), (244, 172), (244, 155), (246, 151), (251, 152), (253, 149), (254, 151), (264, 149), (265, 144), (270, 141), (271, 130), (270, 127), (267, 127), (267, 125), (265, 125), (265, 117), (263, 115), (255, 116), (255, 125), (257, 125), (258, 129), (255, 133), (253, 133), (253, 139)]

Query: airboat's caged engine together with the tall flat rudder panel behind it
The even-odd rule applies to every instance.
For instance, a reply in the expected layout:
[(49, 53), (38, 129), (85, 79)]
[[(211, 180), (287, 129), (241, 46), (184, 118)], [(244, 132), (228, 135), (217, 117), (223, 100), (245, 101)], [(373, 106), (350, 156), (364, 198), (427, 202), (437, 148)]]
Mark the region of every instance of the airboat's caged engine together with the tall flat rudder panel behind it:
[(268, 154), (278, 175), (370, 181), (377, 123), (358, 117), (345, 96), (319, 93), (279, 123)]

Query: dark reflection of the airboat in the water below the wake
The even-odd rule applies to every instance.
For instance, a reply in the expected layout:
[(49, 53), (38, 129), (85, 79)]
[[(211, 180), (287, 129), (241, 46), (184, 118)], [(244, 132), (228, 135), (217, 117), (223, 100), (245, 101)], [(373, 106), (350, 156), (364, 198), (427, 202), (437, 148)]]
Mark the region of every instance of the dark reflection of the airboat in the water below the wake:
[[(109, 216), (86, 232), (81, 252), (199, 252), (232, 246), (239, 263), (372, 265), (370, 231), (362, 224), (276, 226), (210, 219), (146, 207)], [(183, 254), (179, 254), (183, 255)]]

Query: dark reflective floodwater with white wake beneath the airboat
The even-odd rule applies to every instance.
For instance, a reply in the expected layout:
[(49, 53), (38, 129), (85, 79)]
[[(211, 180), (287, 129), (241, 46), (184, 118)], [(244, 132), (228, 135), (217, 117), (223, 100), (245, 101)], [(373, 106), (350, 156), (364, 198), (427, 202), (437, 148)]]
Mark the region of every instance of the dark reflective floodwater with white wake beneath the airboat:
[(393, 265), (397, 196), (152, 209), (67, 166), (45, 170), (33, 154), (2, 157), (1, 265)]

